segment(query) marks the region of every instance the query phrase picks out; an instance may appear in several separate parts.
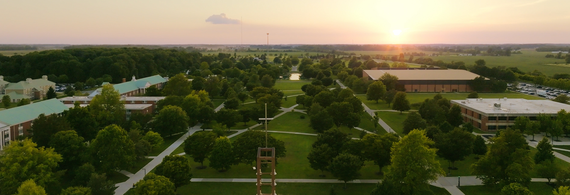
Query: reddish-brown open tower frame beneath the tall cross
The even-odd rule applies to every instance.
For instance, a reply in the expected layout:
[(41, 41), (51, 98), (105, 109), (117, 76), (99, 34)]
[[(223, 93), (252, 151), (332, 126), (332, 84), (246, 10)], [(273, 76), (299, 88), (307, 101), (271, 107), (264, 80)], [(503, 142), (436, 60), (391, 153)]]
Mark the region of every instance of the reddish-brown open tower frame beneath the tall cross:
[[(262, 156), (262, 154), (264, 154)], [(277, 195), (275, 193), (275, 185), (277, 185), (275, 183), (275, 175), (277, 175), (277, 173), (275, 172), (275, 148), (274, 147), (258, 147), (257, 149), (257, 195)], [(271, 164), (271, 172), (262, 172), (261, 171), (261, 165), (262, 164)], [(266, 175), (269, 174), (271, 175), (271, 183), (262, 183), (262, 175)], [(263, 185), (271, 185), (271, 193), (267, 194), (267, 193), (262, 193), (261, 192), (261, 186)]]

